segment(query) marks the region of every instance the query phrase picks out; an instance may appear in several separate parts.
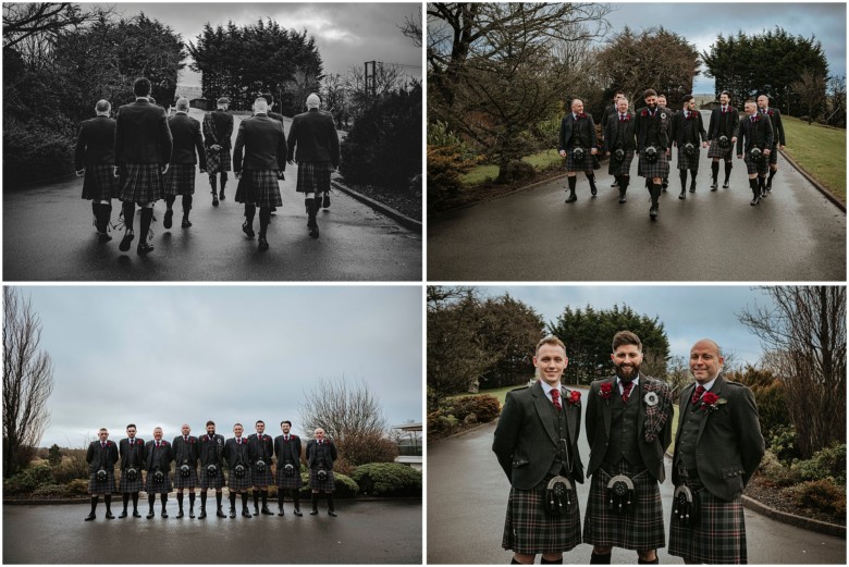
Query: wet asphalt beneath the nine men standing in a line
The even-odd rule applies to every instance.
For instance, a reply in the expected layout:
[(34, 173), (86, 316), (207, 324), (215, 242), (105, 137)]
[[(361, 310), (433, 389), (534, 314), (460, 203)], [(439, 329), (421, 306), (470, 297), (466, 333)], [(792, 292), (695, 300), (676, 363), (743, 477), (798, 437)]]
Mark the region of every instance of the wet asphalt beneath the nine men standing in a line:
[[(226, 494), (224, 495), (226, 503)], [(187, 505), (187, 503), (186, 503)], [(118, 516), (120, 507), (115, 506)], [(227, 505), (224, 505), (226, 511)], [(286, 515), (204, 520), (103, 518), (88, 505), (3, 506), (3, 563), (38, 564), (421, 564), (421, 503), (336, 501), (339, 517)], [(253, 505), (250, 506), (253, 509)], [(276, 510), (276, 504), (271, 507)], [(307, 508), (309, 503), (307, 502)], [(303, 508), (302, 508), (303, 509)], [(186, 509), (186, 513), (188, 510)], [(197, 508), (195, 510), (197, 513)], [(209, 511), (209, 509), (207, 509)], [(312, 543), (310, 543), (312, 542)]]

